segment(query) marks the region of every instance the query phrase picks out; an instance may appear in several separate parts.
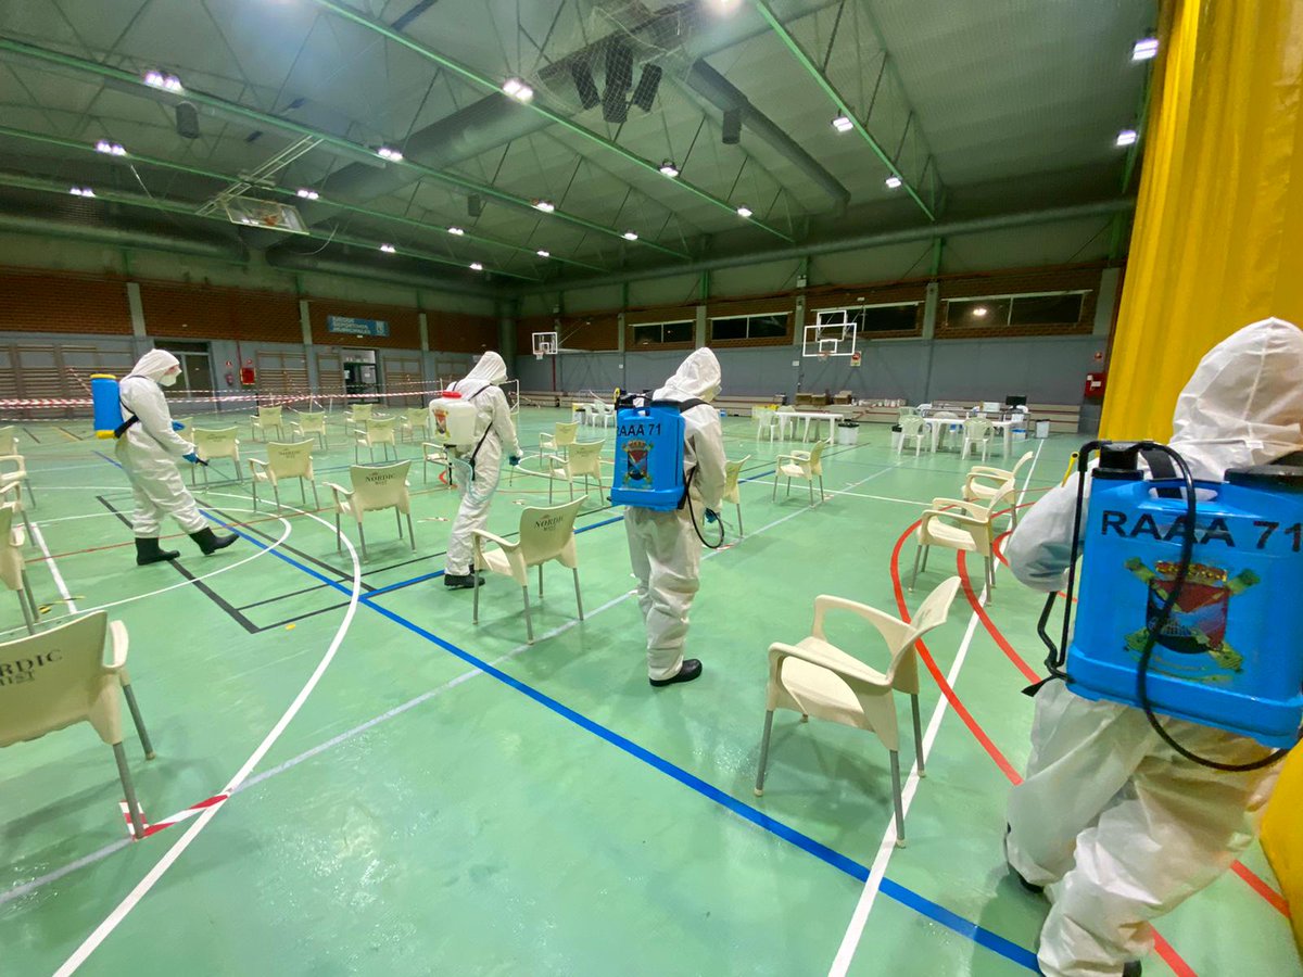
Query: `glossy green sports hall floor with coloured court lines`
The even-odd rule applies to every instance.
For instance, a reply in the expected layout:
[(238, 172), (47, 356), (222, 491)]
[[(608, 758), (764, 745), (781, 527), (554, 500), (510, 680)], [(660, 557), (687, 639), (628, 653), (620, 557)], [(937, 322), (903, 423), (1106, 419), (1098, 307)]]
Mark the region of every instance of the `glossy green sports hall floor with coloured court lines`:
[[(537, 451), (556, 419), (568, 417), (525, 409), (521, 442)], [(437, 469), (426, 487), (420, 461), (416, 552), (375, 513), (358, 565), (336, 552), (328, 511), (302, 512), (287, 487), (298, 508), (255, 515), (248, 481), (219, 479), (219, 461), (198, 498), (246, 538), (210, 558), (176, 539), (176, 565), (137, 568), (111, 452), (77, 423), (23, 425), (30, 515), (52, 555), (27, 550), (46, 620), (68, 614), (57, 571), (78, 611), (108, 607), (130, 629), (159, 754), (145, 762), (128, 736), (146, 818), (231, 796), (132, 843), (90, 727), (0, 753), (0, 974), (82, 959), (103, 974), (1035, 969), (1046, 907), (1006, 875), (1001, 835), (1027, 757), (1019, 663), (1042, 658), (1041, 601), (1007, 571), (989, 608), (960, 591), (926, 640), (955, 700), (925, 683), (930, 753), (909, 784), (908, 847), (883, 845), (887, 754), (865, 733), (779, 713), (765, 796), (752, 792), (769, 644), (808, 633), (817, 594), (894, 611), (896, 567), (908, 580), (913, 561), (902, 541), (968, 462), (893, 456), (886, 429), (865, 426), (825, 455), (829, 498), (810, 508), (804, 486), (770, 500), (774, 455), (794, 446), (757, 443), (749, 418), (724, 434), (730, 457), (749, 456), (747, 535), (702, 564), (689, 653), (705, 675), (653, 690), (620, 512), (595, 490), (579, 537), (588, 617), (554, 565), (526, 646), (509, 581), (489, 580), (474, 627), (470, 594), (435, 576), (456, 496)], [(318, 482), (347, 485), (339, 416), (331, 435)], [(1076, 440), (1028, 442), (1025, 502), (1062, 477)], [(259, 456), (248, 436), (242, 451)], [(520, 505), (539, 502), (542, 478), (504, 479), (490, 529), (512, 533)], [(724, 516), (736, 528), (736, 511)], [(903, 599), (916, 607), (955, 571), (937, 551)], [(968, 571), (980, 580), (976, 561)], [(0, 607), (8, 640), (14, 595)], [(1265, 858), (1255, 848), (1244, 862), (1162, 921), (1147, 974), (1303, 973)]]

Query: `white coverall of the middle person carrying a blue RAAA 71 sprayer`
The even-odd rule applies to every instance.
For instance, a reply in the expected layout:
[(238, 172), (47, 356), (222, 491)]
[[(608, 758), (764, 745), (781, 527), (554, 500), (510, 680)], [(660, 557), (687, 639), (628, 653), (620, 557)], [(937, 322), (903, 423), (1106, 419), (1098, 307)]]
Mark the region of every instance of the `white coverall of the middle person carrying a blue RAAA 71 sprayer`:
[[(679, 366), (653, 400), (705, 400), (683, 412), (684, 478), (692, 475), (692, 505), (698, 520), (709, 508), (719, 511), (724, 491), (724, 439), (719, 412), (709, 401), (719, 392), (719, 361), (710, 349), (697, 349)], [(648, 632), (648, 677), (670, 679), (683, 666), (688, 610), (701, 577), (701, 541), (684, 503), (674, 512), (628, 507), (624, 529), (629, 560), (638, 580), (638, 607)]]

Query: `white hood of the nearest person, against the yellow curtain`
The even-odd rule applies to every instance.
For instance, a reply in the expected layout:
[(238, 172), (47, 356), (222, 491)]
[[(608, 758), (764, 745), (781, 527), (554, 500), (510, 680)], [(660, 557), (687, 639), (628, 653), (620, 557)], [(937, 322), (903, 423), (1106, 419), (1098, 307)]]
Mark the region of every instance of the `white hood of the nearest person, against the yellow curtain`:
[(1213, 347), (1177, 399), (1171, 447), (1196, 478), (1303, 449), (1303, 331), (1263, 319)]

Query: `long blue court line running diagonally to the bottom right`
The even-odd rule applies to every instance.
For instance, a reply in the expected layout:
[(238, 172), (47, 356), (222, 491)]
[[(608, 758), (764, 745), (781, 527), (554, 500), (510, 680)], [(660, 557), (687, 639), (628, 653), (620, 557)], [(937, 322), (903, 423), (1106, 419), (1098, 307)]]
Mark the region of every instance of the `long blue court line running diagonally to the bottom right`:
[[(210, 516), (210, 518), (215, 518), (215, 517)], [(266, 543), (263, 543), (263, 542), (261, 542), (258, 539), (254, 539), (253, 537), (250, 537), (250, 535), (240, 531), (240, 529), (237, 526), (228, 525), (228, 524), (223, 522), (222, 520), (216, 520), (216, 518), (215, 518), (215, 521), (219, 525), (222, 525), (224, 529), (228, 529), (232, 533), (236, 533), (237, 535), (244, 537), (245, 539), (248, 539), (249, 542), (251, 542), (254, 546), (258, 546), (258, 547), (261, 547), (263, 550), (267, 550), (272, 556), (275, 556), (275, 558), (278, 558), (280, 560), (284, 560), (291, 567), (296, 567), (297, 569), (302, 571), (304, 573), (306, 573), (306, 574), (309, 574), (311, 577), (315, 577), (317, 580), (322, 581), (327, 586), (335, 588), (340, 593), (352, 595), (352, 593), (353, 593), (352, 589), (344, 586), (339, 581), (330, 580), (330, 578), (322, 576), (321, 573), (318, 573), (317, 571), (311, 569), (310, 567), (308, 567), (308, 565), (305, 565), (302, 563), (298, 563), (297, 560), (294, 560), (291, 556), (287, 556), (280, 550), (272, 550)], [(595, 525), (592, 526), (592, 528), (595, 529)], [(399, 614), (388, 610), (387, 607), (380, 607), (379, 604), (373, 603), (371, 602), (371, 597), (373, 595), (374, 595), (374, 591), (373, 591), (373, 594), (369, 594), (366, 597), (358, 598), (358, 603), (369, 607), (370, 610), (375, 611), (377, 614), (379, 614), (379, 615), (382, 615), (384, 617), (388, 617), (391, 621), (394, 621), (395, 624), (397, 624), (397, 625), (400, 625), (403, 628), (407, 628), (412, 633), (421, 636), (422, 638), (425, 638), (430, 644), (442, 647), (444, 651), (448, 651), (453, 657), (460, 658), (466, 664), (469, 664), (469, 666), (472, 666), (474, 668), (478, 668), (485, 675), (489, 675), (489, 676), (496, 679), (503, 685), (507, 685), (507, 687), (515, 689), (516, 692), (520, 692), (523, 696), (526, 696), (528, 698), (534, 700), (541, 706), (543, 706), (546, 709), (550, 709), (551, 711), (556, 713), (562, 718), (568, 719), (569, 722), (575, 723), (580, 728), (588, 729), (589, 732), (592, 732), (593, 735), (598, 736), (599, 739), (606, 740), (612, 746), (624, 750), (625, 753), (628, 753), (629, 756), (632, 756), (632, 757), (635, 757), (637, 759), (641, 759), (648, 766), (653, 767), (654, 770), (659, 770), (662, 774), (666, 774), (667, 776), (678, 780), (679, 783), (684, 784), (685, 787), (692, 788), (693, 791), (696, 791), (697, 793), (702, 795), (708, 800), (711, 800), (715, 804), (718, 804), (718, 805), (721, 805), (723, 808), (727, 808), (728, 810), (731, 810), (734, 814), (739, 815), (740, 818), (743, 818), (745, 821), (749, 821), (753, 825), (756, 825), (757, 827), (761, 827), (765, 831), (769, 831), (770, 834), (775, 835), (777, 838), (780, 838), (784, 842), (788, 842), (790, 844), (794, 844), (797, 848), (808, 852), (809, 855), (813, 855), (816, 858), (820, 858), (821, 861), (826, 862), (827, 865), (831, 865), (833, 868), (839, 869), (840, 871), (843, 871), (847, 875), (855, 878), (856, 881), (859, 881), (859, 882), (868, 882), (868, 879), (869, 879), (869, 868), (866, 865), (861, 865), (860, 862), (855, 861), (850, 856), (842, 855), (840, 852), (838, 852), (838, 851), (835, 851), (833, 848), (829, 848), (827, 845), (822, 844), (821, 842), (816, 842), (809, 835), (805, 835), (805, 834), (797, 831), (796, 828), (790, 827), (788, 825), (784, 825), (783, 822), (780, 822), (780, 821), (778, 821), (775, 818), (771, 818), (770, 815), (765, 814), (764, 812), (761, 812), (761, 810), (758, 810), (756, 808), (752, 808), (749, 804), (744, 804), (743, 801), (739, 801), (736, 797), (734, 797), (734, 796), (731, 796), (728, 793), (724, 793), (723, 791), (721, 791), (714, 784), (708, 783), (706, 780), (702, 780), (700, 776), (696, 776), (694, 774), (688, 772), (687, 770), (684, 770), (680, 766), (676, 766), (675, 763), (671, 763), (670, 761), (667, 761), (663, 757), (653, 753), (652, 750), (646, 749), (645, 746), (640, 746), (638, 744), (636, 744), (632, 740), (622, 736), (620, 733), (615, 732), (614, 729), (609, 729), (607, 727), (602, 726), (601, 723), (598, 723), (598, 722), (595, 722), (593, 719), (589, 719), (584, 714), (575, 711), (569, 706), (567, 706), (567, 705), (564, 705), (564, 703), (554, 700), (551, 696), (549, 696), (549, 694), (546, 694), (546, 693), (536, 689), (534, 687), (526, 685), (521, 680), (519, 680), (519, 679), (508, 675), (507, 672), (502, 671), (500, 668), (495, 668), (494, 666), (489, 664), (489, 662), (485, 662), (485, 660), (482, 660), (480, 658), (476, 658), (469, 651), (465, 651), (465, 650), (457, 647), (456, 645), (453, 645), (453, 644), (451, 644), (448, 641), (444, 641), (438, 634), (434, 634), (434, 633), (426, 630), (421, 625), (414, 624), (413, 621), (409, 621), (407, 617), (403, 617), (401, 615), (399, 615)], [(977, 924), (975, 924), (975, 922), (972, 922), (969, 920), (966, 920), (964, 917), (959, 916), (958, 913), (951, 912), (950, 909), (945, 908), (943, 905), (939, 905), (938, 903), (934, 903), (930, 899), (920, 895), (919, 892), (915, 892), (911, 888), (907, 888), (907, 887), (904, 887), (904, 886), (902, 886), (902, 885), (899, 885), (896, 882), (893, 882), (891, 879), (887, 879), (887, 878), (882, 879), (881, 891), (887, 898), (894, 899), (898, 903), (900, 903), (902, 905), (906, 905), (906, 907), (913, 909), (915, 912), (920, 913), (921, 916), (925, 916), (926, 918), (929, 918), (929, 920), (932, 920), (934, 922), (941, 924), (946, 929), (950, 929), (954, 933), (958, 933), (959, 935), (966, 937), (967, 939), (973, 941), (979, 946), (985, 947), (986, 950), (992, 950), (992, 951), (999, 954), (1001, 956), (1006, 957), (1007, 960), (1011, 960), (1012, 963), (1015, 963), (1015, 964), (1018, 964), (1020, 967), (1027, 968), (1028, 970), (1037, 972), (1038, 968), (1037, 968), (1037, 963), (1036, 963), (1036, 954), (1032, 952), (1031, 950), (1027, 950), (1023, 946), (1019, 946), (1018, 943), (1012, 942), (1011, 939), (1006, 939), (1005, 937), (1001, 937), (997, 933), (993, 933), (993, 931), (990, 931), (990, 930), (988, 930), (988, 929), (985, 929), (982, 926), (979, 926)]]

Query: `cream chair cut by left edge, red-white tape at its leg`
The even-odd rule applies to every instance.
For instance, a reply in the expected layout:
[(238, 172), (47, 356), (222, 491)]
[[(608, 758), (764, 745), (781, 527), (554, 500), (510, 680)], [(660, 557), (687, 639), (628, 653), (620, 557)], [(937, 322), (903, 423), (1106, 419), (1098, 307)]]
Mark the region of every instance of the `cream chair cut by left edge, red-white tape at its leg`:
[[(103, 663), (106, 625), (113, 653), (108, 664)], [(74, 723), (90, 723), (99, 739), (113, 748), (133, 834), (138, 840), (145, 838), (145, 825), (132, 771), (126, 766), (126, 750), (122, 749), (119, 689), (126, 698), (146, 759), (154, 759), (154, 744), (126, 673), (126, 625), (121, 621), (109, 624), (104, 611), (0, 645), (0, 662), (12, 662), (18, 668), (17, 680), (0, 683), (0, 748), (38, 740)]]

